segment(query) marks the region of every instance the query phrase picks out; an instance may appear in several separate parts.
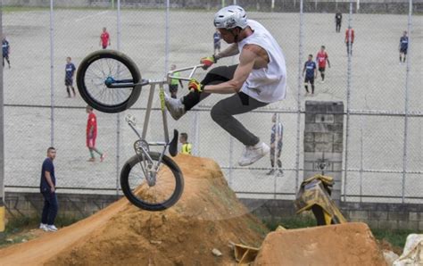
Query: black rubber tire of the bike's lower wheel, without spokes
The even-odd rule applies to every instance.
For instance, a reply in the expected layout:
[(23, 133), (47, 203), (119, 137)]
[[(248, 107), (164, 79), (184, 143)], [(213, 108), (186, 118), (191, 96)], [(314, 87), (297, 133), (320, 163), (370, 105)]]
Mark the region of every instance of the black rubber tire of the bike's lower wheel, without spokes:
[[(150, 154), (154, 161), (159, 160), (161, 155), (156, 152), (149, 152), (148, 154)], [(120, 187), (123, 191), (123, 194), (128, 198), (129, 202), (136, 205), (140, 209), (152, 212), (163, 211), (170, 208), (173, 204), (176, 204), (184, 190), (184, 178), (182, 176), (181, 170), (178, 167), (178, 164), (171, 160), (170, 157), (163, 155), (162, 163), (169, 167), (171, 170), (173, 178), (175, 179), (175, 189), (167, 200), (163, 201), (162, 203), (152, 204), (140, 199), (129, 185), (129, 173), (132, 168), (137, 165), (138, 162), (140, 162), (140, 160), (142, 160), (142, 157), (139, 155), (132, 156), (127, 162), (125, 162), (122, 170), (120, 171)]]

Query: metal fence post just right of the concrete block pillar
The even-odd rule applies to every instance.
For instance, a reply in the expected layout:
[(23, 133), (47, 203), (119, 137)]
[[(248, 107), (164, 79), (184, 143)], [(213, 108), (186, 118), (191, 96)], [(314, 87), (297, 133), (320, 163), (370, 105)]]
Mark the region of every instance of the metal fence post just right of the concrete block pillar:
[[(348, 14), (348, 29), (352, 24), (352, 0), (350, 0), (350, 12)], [(351, 28), (352, 29), (352, 28)], [(345, 172), (344, 172), (344, 201), (346, 201), (346, 185), (348, 177), (348, 140), (350, 137), (350, 104), (351, 104), (351, 71), (352, 71), (352, 43), (351, 43), (352, 30), (349, 31), (348, 43), (348, 63), (347, 63), (347, 79), (346, 79), (346, 123), (345, 123)], [(341, 192), (342, 193), (342, 192)]]

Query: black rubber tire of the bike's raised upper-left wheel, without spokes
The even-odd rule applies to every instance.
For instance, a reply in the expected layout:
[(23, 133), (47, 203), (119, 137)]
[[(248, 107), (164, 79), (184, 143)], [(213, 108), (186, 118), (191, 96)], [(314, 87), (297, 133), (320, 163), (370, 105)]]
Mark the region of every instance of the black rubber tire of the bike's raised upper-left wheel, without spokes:
[[(133, 87), (128, 98), (123, 100), (121, 103), (117, 104), (104, 104), (98, 99), (96, 99), (95, 96), (92, 96), (88, 91), (86, 85), (87, 70), (89, 66), (92, 65), (94, 62), (104, 58), (116, 60), (122, 63), (126, 68), (128, 68), (134, 83), (138, 83), (141, 80), (141, 74), (138, 71), (137, 64), (133, 62), (127, 55), (113, 50), (100, 50), (88, 54), (79, 64), (79, 68), (77, 71), (77, 86), (79, 94), (87, 102), (87, 104), (93, 107), (95, 110), (98, 110), (100, 112), (123, 112), (129, 109), (130, 106), (137, 102), (137, 99), (141, 93), (141, 86)], [(117, 88), (105, 87), (105, 89)]]

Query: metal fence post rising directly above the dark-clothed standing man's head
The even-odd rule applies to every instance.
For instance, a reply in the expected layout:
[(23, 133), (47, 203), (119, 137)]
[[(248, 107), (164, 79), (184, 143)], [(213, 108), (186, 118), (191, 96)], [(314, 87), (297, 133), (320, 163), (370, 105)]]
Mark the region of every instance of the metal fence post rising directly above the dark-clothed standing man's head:
[(50, 0), (50, 145), (54, 146), (54, 10)]

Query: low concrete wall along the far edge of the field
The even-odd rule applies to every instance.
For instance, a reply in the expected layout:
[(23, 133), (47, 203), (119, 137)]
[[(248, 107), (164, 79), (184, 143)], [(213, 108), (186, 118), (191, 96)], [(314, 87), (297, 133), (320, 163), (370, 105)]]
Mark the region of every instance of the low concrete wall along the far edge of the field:
[[(114, 1), (115, 3), (117, 1)], [(121, 0), (122, 7), (164, 7), (166, 1), (163, 0)], [(226, 3), (231, 3), (226, 0)], [(408, 13), (408, 0), (367, 0), (361, 1), (361, 13)], [(49, 6), (49, 0), (3, 0), (3, 5), (15, 6)], [(201, 8), (207, 10), (217, 10), (221, 7), (221, 0), (171, 0), (171, 7), (177, 8)], [(299, 12), (300, 1), (275, 1), (273, 10), (270, 8), (270, 0), (243, 0), (243, 7), (250, 11), (262, 12)], [(110, 7), (112, 0), (54, 0), (56, 7)], [(304, 12), (349, 12), (349, 1), (304, 1)], [(354, 12), (356, 5), (353, 5)], [(423, 12), (423, 0), (413, 0), (414, 12)]]

